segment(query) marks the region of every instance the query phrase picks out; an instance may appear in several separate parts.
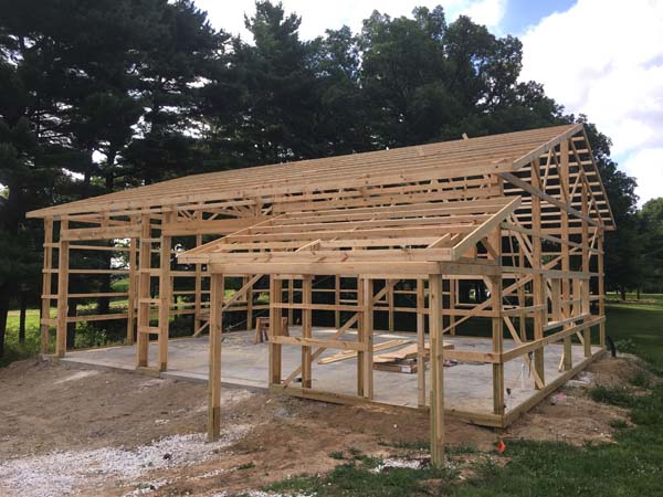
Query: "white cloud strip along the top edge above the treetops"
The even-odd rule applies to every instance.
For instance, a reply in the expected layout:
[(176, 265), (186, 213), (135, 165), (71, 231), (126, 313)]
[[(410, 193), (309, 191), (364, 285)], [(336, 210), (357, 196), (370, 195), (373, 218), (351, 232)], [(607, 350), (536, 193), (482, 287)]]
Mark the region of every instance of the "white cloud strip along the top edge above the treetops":
[[(507, 0), (282, 0), (286, 12), (296, 12), (302, 17), (299, 30), (303, 39), (311, 40), (324, 34), (326, 29), (338, 29), (349, 25), (355, 32), (361, 29), (361, 21), (373, 10), (392, 17), (410, 15), (414, 7), (430, 9), (442, 3), (448, 20), (460, 14), (470, 15), (475, 22), (496, 28), (504, 17)], [(276, 2), (276, 1), (275, 1)], [(251, 36), (244, 28), (244, 13), (250, 17), (255, 12), (254, 0), (196, 0), (196, 4), (208, 12), (212, 24), (243, 39)]]

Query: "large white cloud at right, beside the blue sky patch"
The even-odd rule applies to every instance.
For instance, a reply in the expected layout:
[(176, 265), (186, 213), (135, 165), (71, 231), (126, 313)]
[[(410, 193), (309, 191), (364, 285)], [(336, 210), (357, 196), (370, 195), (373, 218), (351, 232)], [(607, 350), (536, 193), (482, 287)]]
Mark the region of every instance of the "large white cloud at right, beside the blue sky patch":
[(641, 203), (663, 195), (663, 1), (578, 0), (523, 36), (523, 78), (613, 140), (640, 183)]

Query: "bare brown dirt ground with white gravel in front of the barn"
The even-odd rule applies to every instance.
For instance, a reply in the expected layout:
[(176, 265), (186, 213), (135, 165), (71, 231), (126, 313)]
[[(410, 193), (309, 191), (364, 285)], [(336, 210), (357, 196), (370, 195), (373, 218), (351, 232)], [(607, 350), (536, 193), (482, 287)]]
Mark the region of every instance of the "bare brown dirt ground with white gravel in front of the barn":
[[(611, 422), (627, 413), (586, 391), (624, 383), (640, 368), (633, 358), (603, 359), (508, 430), (446, 420), (446, 441), (482, 451), (514, 437), (610, 442)], [(223, 434), (208, 444), (206, 402), (203, 384), (15, 362), (0, 370), (0, 495), (232, 496), (328, 472), (334, 452), (402, 456), (429, 435), (425, 413), (224, 389)]]

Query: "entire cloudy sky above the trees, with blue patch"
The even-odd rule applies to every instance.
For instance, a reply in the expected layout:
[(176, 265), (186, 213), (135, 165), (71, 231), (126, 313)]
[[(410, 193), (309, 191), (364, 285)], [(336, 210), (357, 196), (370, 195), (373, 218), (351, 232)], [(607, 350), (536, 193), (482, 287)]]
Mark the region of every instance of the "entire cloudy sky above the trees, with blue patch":
[[(638, 180), (640, 205), (663, 197), (663, 0), (282, 0), (302, 17), (303, 39), (349, 25), (378, 9), (409, 15), (442, 4), (497, 35), (523, 41), (522, 80), (543, 83), (568, 113), (586, 114), (612, 139), (612, 158)], [(254, 0), (196, 0), (214, 28), (251, 40)]]

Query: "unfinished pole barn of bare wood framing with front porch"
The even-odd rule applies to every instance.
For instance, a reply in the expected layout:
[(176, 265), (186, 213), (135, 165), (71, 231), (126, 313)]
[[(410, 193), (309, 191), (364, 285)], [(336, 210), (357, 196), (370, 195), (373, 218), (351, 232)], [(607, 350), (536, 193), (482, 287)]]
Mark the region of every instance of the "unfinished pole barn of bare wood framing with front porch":
[[(435, 463), (444, 415), (507, 426), (604, 352), (614, 221), (582, 125), (197, 175), (30, 216), (45, 228), (43, 352), (51, 327), (65, 358), (69, 324), (124, 320), (133, 367), (162, 373), (172, 317), (192, 316), (209, 335), (210, 438), (236, 313), (257, 326), (264, 385), (428, 409)], [(126, 263), (73, 267), (74, 251)], [(78, 274), (128, 289), (70, 293)], [(69, 311), (98, 297), (127, 304)]]

